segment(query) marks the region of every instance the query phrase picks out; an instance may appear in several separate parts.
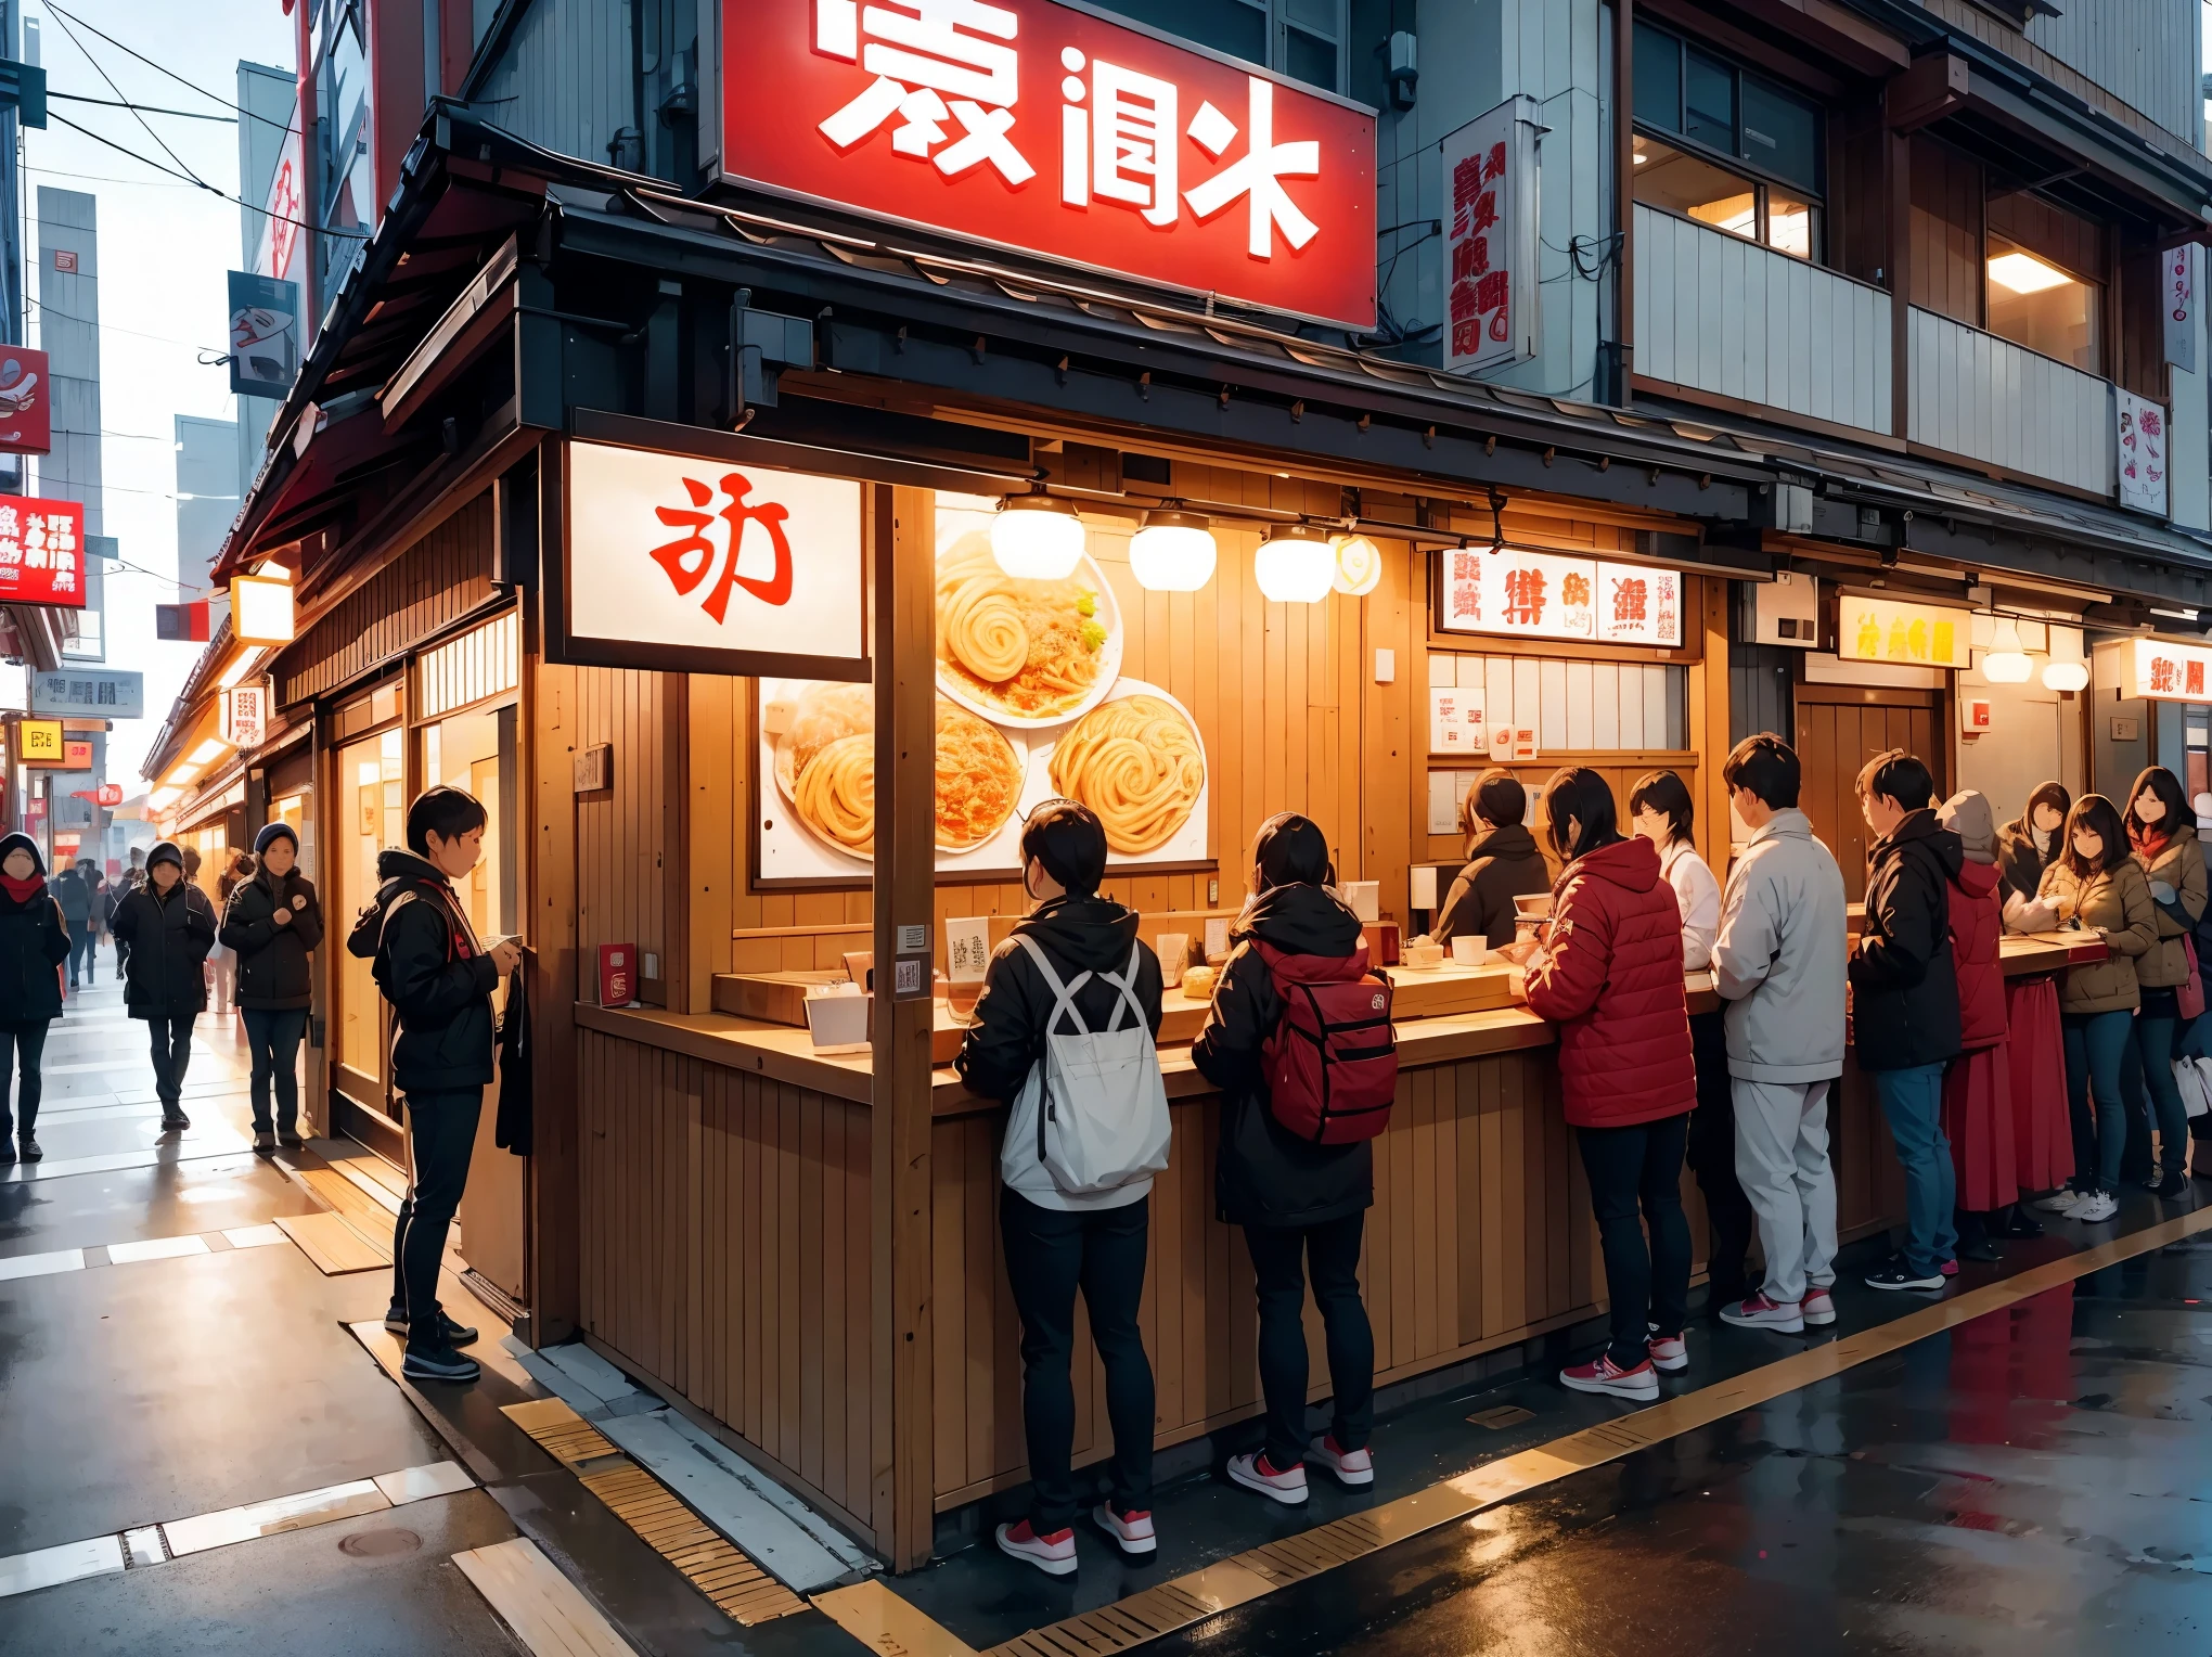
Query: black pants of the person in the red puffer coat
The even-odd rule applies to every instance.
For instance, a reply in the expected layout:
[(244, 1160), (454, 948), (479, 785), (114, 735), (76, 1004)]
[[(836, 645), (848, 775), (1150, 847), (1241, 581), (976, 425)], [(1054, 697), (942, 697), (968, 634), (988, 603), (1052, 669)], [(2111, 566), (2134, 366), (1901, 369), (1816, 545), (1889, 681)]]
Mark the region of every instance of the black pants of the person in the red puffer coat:
[[(1690, 1221), (1681, 1212), (1688, 1133), (1688, 1115), (1632, 1128), (1575, 1128), (1606, 1257), (1606, 1294), (1613, 1296), (1610, 1352), (1621, 1369), (1644, 1363), (1650, 1325), (1659, 1325), (1659, 1334), (1681, 1334), (1690, 1316)], [(1639, 1206), (1650, 1223), (1648, 1248)]]

